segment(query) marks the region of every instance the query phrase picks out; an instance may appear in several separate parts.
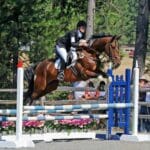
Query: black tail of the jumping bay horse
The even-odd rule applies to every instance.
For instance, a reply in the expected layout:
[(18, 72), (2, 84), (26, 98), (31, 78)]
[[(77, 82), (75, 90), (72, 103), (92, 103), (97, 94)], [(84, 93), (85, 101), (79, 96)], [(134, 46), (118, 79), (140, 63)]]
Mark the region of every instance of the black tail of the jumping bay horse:
[(27, 92), (24, 96), (24, 102), (26, 103), (29, 100), (31, 100), (31, 95), (34, 90), (34, 72), (37, 64), (31, 65), (24, 71), (24, 79), (27, 81)]

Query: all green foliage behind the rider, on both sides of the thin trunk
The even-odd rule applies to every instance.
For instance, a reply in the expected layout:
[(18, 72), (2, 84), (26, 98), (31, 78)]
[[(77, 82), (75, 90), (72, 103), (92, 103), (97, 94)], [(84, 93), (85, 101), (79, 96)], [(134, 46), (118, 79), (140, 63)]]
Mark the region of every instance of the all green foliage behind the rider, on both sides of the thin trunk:
[[(96, 0), (95, 33), (122, 35), (123, 44), (134, 43), (137, 2)], [(1, 0), (0, 5), (0, 79), (10, 86), (18, 51), (30, 48), (32, 63), (54, 57), (57, 38), (74, 29), (78, 20), (86, 20), (88, 1)]]

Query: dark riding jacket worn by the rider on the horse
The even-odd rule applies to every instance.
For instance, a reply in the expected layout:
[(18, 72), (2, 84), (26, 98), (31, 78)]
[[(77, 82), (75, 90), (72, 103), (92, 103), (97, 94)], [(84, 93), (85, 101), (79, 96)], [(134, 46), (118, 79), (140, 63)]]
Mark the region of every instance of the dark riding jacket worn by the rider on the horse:
[(79, 41), (84, 38), (85, 34), (81, 33), (79, 30), (73, 30), (59, 38), (56, 42), (56, 45), (66, 48), (68, 52), (70, 51), (71, 47), (76, 48), (79, 45)]

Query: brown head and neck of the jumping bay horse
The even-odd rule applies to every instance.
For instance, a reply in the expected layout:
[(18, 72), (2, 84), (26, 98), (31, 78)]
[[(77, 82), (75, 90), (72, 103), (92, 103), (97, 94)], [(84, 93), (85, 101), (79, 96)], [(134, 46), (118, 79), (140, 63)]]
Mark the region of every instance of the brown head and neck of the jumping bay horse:
[(113, 62), (114, 67), (117, 67), (121, 63), (120, 52), (119, 52), (119, 40), (120, 36), (103, 36), (97, 38), (91, 45), (92, 49), (95, 49), (101, 53), (105, 52), (109, 59)]

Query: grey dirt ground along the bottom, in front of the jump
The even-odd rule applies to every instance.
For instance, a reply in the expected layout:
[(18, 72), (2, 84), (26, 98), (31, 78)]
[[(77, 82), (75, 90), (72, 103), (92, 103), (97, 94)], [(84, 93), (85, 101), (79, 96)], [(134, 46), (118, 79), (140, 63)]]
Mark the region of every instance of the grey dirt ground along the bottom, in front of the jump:
[[(18, 148), (17, 150), (149, 150), (150, 142), (126, 142), (107, 140), (72, 140), (37, 142), (35, 148)], [(2, 148), (0, 150), (6, 150)], [(15, 150), (15, 149), (8, 149)]]

